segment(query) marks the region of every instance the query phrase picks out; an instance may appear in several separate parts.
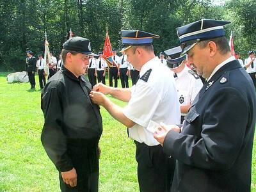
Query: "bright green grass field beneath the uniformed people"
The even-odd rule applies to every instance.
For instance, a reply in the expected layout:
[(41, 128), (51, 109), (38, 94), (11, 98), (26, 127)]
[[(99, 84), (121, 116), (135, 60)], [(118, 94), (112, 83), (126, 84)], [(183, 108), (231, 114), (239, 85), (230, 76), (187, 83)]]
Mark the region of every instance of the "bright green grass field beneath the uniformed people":
[[(0, 73), (0, 191), (60, 191), (58, 172), (40, 142), (44, 116), (38, 77), (36, 90), (31, 92), (29, 83), (6, 83), (6, 75)], [(104, 131), (100, 139), (99, 191), (139, 191), (134, 143), (127, 138), (124, 125), (104, 108), (101, 114)], [(252, 191), (256, 191), (255, 145)]]

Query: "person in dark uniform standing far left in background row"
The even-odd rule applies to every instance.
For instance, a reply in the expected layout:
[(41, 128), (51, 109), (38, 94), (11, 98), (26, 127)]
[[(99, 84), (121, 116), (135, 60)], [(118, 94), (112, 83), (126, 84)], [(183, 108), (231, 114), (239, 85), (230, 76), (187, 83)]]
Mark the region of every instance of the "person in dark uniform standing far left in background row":
[(27, 51), (28, 58), (26, 58), (26, 71), (28, 72), (28, 79), (31, 85), (30, 89), (35, 89), (36, 58), (32, 54), (32, 51)]

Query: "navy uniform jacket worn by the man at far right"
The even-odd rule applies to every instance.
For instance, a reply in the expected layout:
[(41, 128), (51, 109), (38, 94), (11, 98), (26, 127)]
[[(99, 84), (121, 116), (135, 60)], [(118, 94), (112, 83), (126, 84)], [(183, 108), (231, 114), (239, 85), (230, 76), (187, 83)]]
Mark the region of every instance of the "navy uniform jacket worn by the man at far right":
[(255, 102), (237, 60), (205, 82), (182, 132), (164, 140), (164, 152), (177, 159), (172, 191), (250, 191)]

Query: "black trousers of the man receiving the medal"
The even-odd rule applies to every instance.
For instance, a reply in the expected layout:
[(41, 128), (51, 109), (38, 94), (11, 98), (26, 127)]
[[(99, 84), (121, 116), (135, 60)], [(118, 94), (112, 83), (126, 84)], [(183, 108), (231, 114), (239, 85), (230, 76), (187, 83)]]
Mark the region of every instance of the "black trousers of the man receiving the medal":
[(74, 142), (68, 143), (67, 153), (76, 169), (77, 186), (72, 188), (65, 184), (61, 177), (61, 172), (59, 172), (61, 191), (99, 191), (99, 154), (97, 150), (97, 141), (92, 141), (91, 143), (88, 143), (88, 145), (81, 145), (80, 143)]

